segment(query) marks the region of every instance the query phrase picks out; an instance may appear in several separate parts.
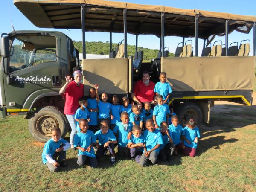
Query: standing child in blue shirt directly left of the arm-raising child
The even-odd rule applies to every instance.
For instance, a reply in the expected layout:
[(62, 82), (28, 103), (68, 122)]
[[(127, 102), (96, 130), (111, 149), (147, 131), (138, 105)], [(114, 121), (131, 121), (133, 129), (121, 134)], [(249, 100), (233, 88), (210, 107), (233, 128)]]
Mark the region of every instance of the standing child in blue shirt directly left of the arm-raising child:
[(97, 115), (98, 115), (98, 102), (96, 100), (96, 90), (93, 87), (90, 87), (89, 89), (89, 98), (87, 99), (88, 102), (88, 111), (89, 111), (89, 129), (95, 133), (98, 128), (98, 122), (97, 122)]

